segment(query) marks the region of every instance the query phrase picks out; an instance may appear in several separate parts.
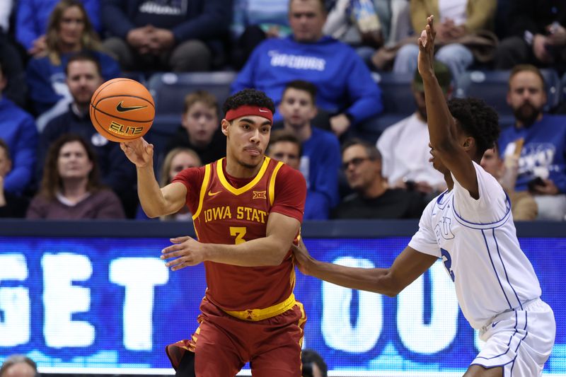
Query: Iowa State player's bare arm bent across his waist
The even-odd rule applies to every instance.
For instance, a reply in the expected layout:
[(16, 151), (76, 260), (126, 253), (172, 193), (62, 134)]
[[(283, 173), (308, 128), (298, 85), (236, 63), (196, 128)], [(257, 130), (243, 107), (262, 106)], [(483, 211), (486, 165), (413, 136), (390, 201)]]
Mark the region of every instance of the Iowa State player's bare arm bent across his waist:
[(170, 260), (166, 266), (173, 271), (205, 260), (243, 267), (277, 266), (287, 255), (300, 225), (297, 219), (272, 212), (263, 238), (238, 245), (200, 243), (191, 237), (172, 238), (174, 245), (162, 250), (161, 259)]

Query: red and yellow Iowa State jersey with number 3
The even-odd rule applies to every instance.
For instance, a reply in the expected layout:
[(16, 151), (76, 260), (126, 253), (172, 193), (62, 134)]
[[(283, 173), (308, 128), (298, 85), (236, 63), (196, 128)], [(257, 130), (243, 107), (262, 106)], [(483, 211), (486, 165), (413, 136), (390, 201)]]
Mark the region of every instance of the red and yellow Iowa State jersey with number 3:
[[(251, 179), (226, 174), (224, 158), (179, 173), (187, 205), (202, 243), (238, 244), (266, 236), (267, 219), (277, 212), (303, 219), (306, 183), (298, 170), (265, 157)], [(204, 262), (207, 298), (224, 311), (269, 308), (292, 296), (295, 274), (291, 251), (278, 266), (240, 267)]]

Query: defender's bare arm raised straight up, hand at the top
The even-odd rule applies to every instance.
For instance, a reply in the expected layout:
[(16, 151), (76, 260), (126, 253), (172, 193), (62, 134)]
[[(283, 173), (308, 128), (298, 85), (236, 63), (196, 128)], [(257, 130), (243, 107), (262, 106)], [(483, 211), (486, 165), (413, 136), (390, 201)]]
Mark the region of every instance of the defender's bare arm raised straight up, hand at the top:
[[(429, 16), (427, 26), (419, 37), (418, 67), (424, 83), (430, 144), (434, 155), (441, 159), (462, 187), (466, 188), (472, 197), (478, 199), (478, 178), (475, 175), (475, 168), (466, 149), (461, 145), (456, 120), (450, 114), (442, 89), (434, 76), (434, 37), (436, 37), (434, 16)], [(465, 141), (468, 146), (473, 142), (473, 138)]]

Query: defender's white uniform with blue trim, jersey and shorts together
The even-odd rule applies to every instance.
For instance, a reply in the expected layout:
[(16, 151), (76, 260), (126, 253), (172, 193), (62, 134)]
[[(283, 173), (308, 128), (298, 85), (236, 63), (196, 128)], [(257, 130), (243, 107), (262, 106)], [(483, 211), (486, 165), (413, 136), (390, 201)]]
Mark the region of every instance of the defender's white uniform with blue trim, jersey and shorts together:
[(463, 315), (487, 342), (472, 364), (502, 366), (506, 377), (540, 376), (554, 344), (553, 311), (539, 298), (541, 286), (517, 240), (509, 198), (473, 164), (479, 198), (453, 175), (453, 190), (424, 209), (409, 246), (443, 260)]

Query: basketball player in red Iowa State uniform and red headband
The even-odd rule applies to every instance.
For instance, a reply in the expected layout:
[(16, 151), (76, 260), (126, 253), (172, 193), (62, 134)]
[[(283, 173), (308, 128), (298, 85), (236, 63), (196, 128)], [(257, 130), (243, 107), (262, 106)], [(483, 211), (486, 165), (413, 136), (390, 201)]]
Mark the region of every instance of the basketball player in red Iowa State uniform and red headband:
[[(172, 238), (166, 265), (178, 270), (204, 262), (207, 291), (190, 340), (167, 347), (177, 375), (232, 377), (250, 361), (253, 376), (301, 376), (306, 315), (295, 301), (289, 248), (298, 238), (306, 182), (298, 170), (263, 155), (270, 139), (272, 100), (246, 89), (224, 103), (226, 158), (187, 168), (161, 189), (153, 146), (122, 143), (137, 166), (141, 206), (150, 217), (188, 205), (198, 240)], [(189, 352), (187, 352), (189, 351)]]

